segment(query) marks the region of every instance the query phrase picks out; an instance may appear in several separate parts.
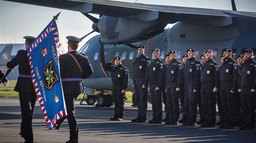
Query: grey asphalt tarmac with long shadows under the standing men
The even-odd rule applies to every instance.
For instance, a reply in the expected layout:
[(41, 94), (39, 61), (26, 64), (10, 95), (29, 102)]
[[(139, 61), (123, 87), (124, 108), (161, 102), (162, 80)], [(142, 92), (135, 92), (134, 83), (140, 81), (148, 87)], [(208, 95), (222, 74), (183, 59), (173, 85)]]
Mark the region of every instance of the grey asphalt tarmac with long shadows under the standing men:
[[(84, 102), (85, 103), (85, 102)], [(133, 123), (137, 117), (137, 108), (125, 103), (124, 121), (110, 121), (114, 107), (95, 107), (79, 105), (76, 101), (80, 143), (166, 143), (166, 142), (225, 142), (256, 143), (256, 129), (202, 128), (200, 126), (182, 126)], [(163, 118), (165, 112), (163, 111)], [(181, 117), (181, 115), (180, 115)], [(197, 121), (199, 120), (197, 114)], [(148, 103), (147, 120), (152, 119), (151, 104)], [(216, 120), (219, 120), (217, 116)], [(24, 139), (19, 135), (21, 122), (20, 101), (17, 98), (0, 97), (0, 143), (20, 143)], [(39, 103), (36, 103), (33, 118), (35, 143), (65, 143), (69, 139), (67, 120), (60, 130), (48, 130)]]

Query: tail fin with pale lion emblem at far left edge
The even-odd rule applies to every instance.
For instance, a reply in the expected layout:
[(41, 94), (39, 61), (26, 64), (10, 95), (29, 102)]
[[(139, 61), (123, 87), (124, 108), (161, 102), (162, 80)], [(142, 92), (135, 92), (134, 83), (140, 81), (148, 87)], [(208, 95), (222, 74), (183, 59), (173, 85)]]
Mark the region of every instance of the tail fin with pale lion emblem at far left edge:
[(6, 65), (8, 61), (11, 59), (11, 50), (13, 49), (13, 45), (9, 44), (4, 47), (4, 49), (0, 53), (0, 65)]

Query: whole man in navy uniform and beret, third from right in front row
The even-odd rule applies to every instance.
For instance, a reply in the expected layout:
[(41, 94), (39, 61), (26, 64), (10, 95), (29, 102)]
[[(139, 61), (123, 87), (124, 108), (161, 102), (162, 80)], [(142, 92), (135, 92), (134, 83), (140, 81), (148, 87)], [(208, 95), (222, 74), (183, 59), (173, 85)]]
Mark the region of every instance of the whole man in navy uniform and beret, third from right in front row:
[(216, 92), (219, 88), (219, 65), (213, 60), (213, 51), (205, 51), (206, 63), (201, 70), (201, 99), (206, 122), (202, 127), (214, 127), (216, 122)]

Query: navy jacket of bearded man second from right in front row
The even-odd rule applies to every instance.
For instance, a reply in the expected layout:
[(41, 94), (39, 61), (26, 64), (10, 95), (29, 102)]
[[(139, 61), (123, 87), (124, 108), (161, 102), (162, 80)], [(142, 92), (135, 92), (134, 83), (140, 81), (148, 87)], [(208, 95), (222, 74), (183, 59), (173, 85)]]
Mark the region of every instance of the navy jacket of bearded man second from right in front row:
[(231, 90), (237, 91), (238, 68), (238, 64), (231, 57), (224, 61), (219, 68), (221, 85), (232, 85)]

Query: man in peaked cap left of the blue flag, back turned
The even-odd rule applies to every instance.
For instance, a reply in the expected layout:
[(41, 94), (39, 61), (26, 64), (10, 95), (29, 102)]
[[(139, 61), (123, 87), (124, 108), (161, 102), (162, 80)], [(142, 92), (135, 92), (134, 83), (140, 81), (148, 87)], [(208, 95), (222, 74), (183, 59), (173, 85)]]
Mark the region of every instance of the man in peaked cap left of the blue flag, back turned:
[[(35, 40), (33, 36), (25, 36), (26, 49)], [(22, 111), (22, 123), (20, 135), (24, 137), (26, 143), (33, 143), (32, 119), (37, 95), (32, 82), (30, 65), (26, 50), (19, 50), (17, 55), (7, 63), (7, 68), (19, 65), (19, 77), (14, 91), (19, 92), (20, 107)]]

